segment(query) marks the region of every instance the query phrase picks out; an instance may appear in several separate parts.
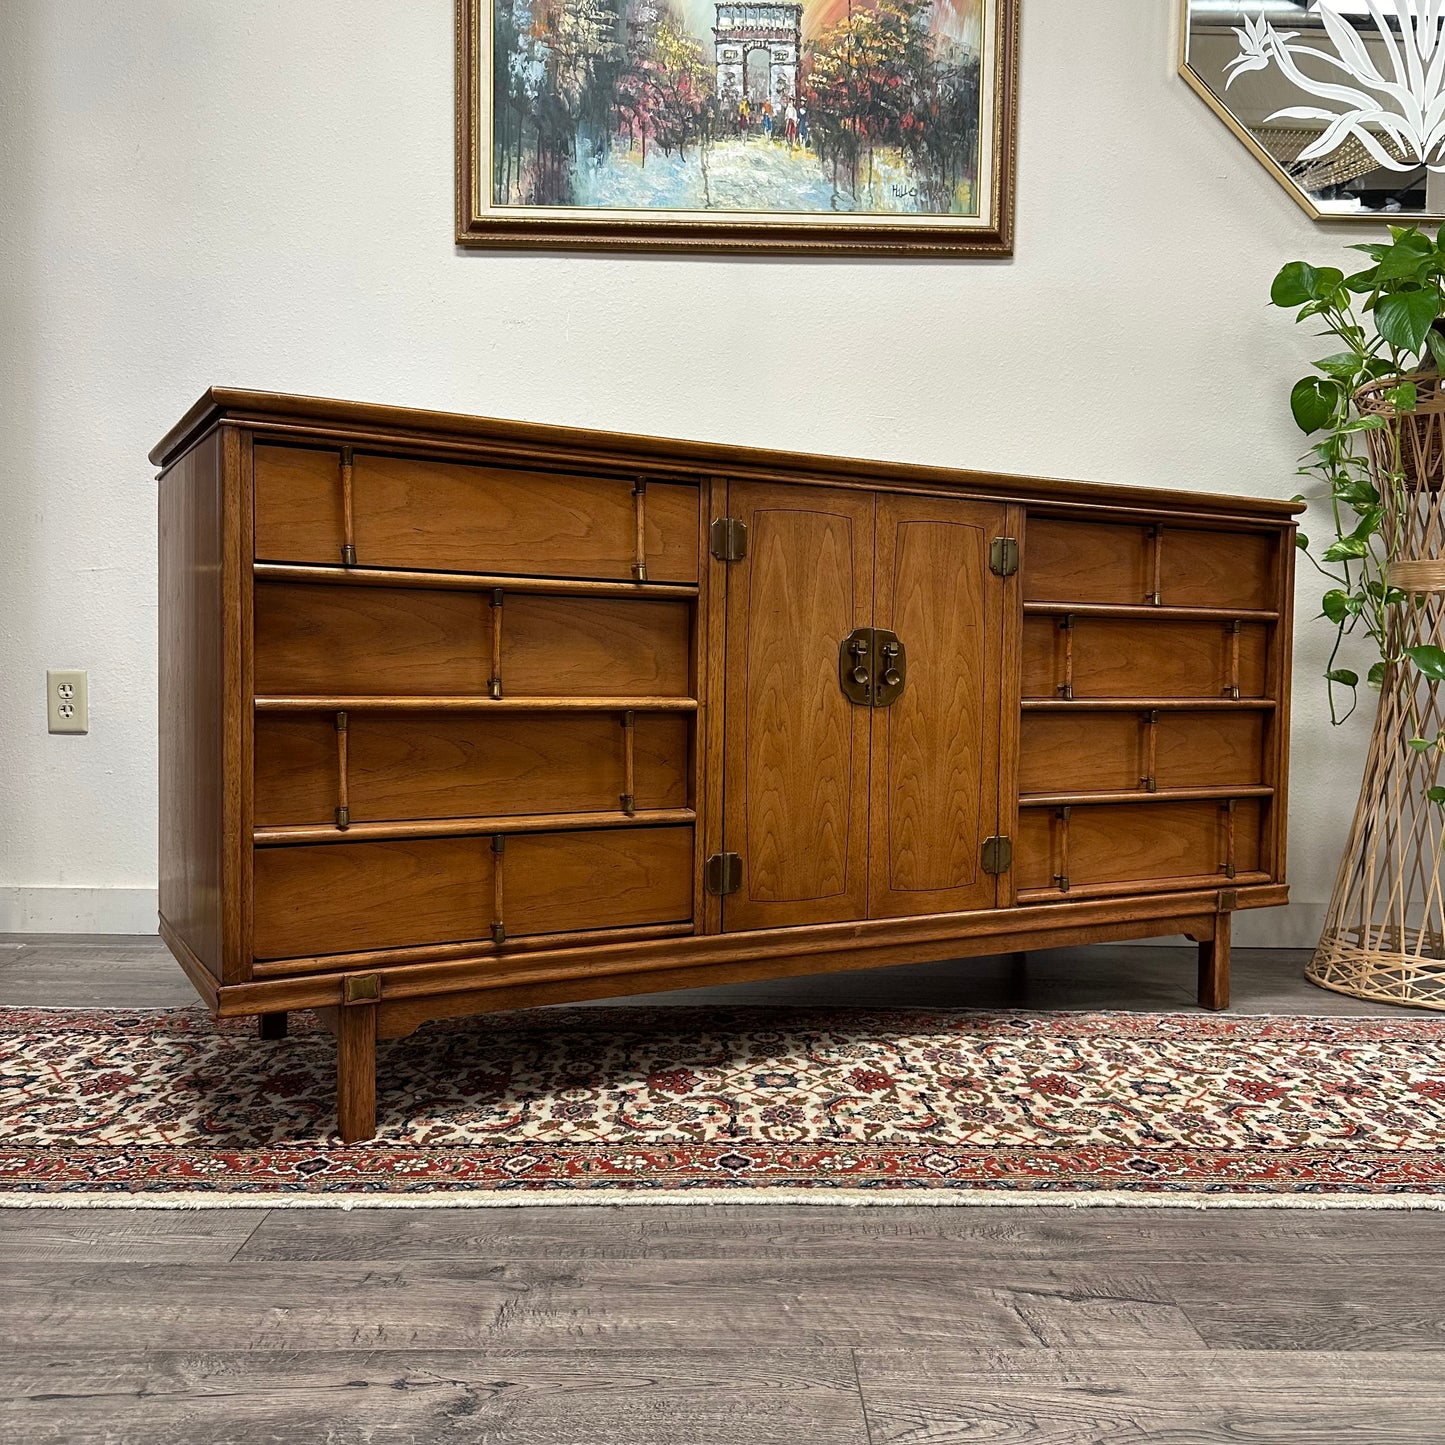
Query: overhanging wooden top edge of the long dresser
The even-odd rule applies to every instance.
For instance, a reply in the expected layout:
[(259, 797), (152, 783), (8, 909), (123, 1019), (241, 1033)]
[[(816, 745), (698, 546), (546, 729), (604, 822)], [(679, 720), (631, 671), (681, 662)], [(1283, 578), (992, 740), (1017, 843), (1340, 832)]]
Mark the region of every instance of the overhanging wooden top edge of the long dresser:
[(1100, 506), (1162, 506), (1196, 513), (1286, 522), (1303, 504), (1274, 497), (1237, 497), (1205, 491), (1131, 487), (1116, 483), (1062, 481), (1010, 473), (925, 467), (913, 462), (867, 461), (818, 452), (772, 451), (722, 442), (689, 442), (663, 436), (548, 426), (535, 422), (426, 412), (370, 402), (338, 402), (279, 392), (249, 392), (214, 386), (156, 444), (150, 461), (169, 465), (217, 422), (280, 432), (296, 441), (335, 442), (338, 434), (364, 445), (477, 447), (510, 451), (522, 464), (568, 462), (578, 457), (608, 471), (643, 470), (659, 480), (669, 473), (712, 471), (730, 477), (828, 483), (871, 483), (923, 487), (1020, 501), (1072, 501)]

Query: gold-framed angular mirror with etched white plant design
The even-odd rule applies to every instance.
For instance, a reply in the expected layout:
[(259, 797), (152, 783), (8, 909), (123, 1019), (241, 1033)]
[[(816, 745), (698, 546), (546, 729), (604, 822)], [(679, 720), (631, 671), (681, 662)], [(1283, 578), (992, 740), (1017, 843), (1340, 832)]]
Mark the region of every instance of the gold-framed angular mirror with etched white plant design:
[(1445, 218), (1445, 0), (1181, 0), (1179, 52), (1316, 220)]

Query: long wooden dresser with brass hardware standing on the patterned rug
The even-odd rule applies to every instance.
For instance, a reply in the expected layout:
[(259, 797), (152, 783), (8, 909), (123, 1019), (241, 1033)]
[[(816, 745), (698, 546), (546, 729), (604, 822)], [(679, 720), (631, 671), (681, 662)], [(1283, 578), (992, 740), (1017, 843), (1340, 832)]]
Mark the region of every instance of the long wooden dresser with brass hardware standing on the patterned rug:
[(428, 1019), (1283, 903), (1289, 503), (211, 390), (160, 467), (160, 931)]

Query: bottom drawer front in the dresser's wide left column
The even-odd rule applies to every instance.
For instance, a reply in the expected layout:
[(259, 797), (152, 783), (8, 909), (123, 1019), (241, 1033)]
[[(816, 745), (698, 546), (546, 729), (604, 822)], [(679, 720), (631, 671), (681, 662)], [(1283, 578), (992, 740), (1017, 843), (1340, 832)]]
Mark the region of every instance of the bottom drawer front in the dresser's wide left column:
[[(260, 959), (490, 939), (499, 854), (488, 838), (257, 848)], [(513, 835), (500, 854), (509, 938), (692, 918), (692, 829)]]

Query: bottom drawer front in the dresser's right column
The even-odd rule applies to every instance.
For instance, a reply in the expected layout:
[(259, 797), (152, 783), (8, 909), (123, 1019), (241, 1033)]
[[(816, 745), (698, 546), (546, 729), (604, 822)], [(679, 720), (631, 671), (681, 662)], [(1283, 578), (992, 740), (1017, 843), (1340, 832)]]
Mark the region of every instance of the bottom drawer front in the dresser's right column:
[[(1261, 816), (1259, 799), (1234, 805), (1235, 873), (1259, 868)], [(1020, 892), (1056, 889), (1061, 873), (1071, 889), (1179, 879), (1222, 886), (1228, 861), (1230, 814), (1217, 802), (1103, 803), (1075, 806), (1066, 821), (1055, 808), (1022, 809), (1013, 868)]]

